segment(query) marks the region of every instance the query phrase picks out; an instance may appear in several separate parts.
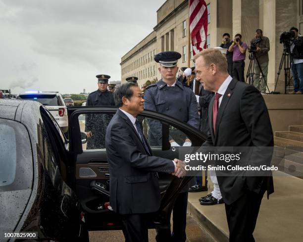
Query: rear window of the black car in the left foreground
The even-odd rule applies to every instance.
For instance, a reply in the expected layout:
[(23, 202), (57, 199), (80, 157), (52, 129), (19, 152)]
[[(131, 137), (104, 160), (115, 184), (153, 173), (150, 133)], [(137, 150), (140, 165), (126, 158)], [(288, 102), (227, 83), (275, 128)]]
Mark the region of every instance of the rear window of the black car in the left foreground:
[(25, 127), (0, 119), (0, 192), (31, 189), (33, 159)]

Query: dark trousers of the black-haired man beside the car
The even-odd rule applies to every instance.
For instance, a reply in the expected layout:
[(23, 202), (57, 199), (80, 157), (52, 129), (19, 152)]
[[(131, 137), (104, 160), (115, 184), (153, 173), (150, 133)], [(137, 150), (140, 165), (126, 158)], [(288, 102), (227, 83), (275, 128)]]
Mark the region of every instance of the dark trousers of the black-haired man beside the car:
[(125, 214), (122, 219), (122, 231), (125, 242), (148, 242), (147, 221), (149, 214)]

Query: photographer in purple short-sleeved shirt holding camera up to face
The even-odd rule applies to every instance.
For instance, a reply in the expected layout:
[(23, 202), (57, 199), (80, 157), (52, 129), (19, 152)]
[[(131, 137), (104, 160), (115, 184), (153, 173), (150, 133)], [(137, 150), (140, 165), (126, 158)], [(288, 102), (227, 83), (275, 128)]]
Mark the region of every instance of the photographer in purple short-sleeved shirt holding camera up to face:
[(247, 44), (242, 42), (242, 35), (236, 34), (231, 46), (228, 48), (229, 52), (233, 52), (233, 77), (240, 82), (244, 82), (244, 67)]

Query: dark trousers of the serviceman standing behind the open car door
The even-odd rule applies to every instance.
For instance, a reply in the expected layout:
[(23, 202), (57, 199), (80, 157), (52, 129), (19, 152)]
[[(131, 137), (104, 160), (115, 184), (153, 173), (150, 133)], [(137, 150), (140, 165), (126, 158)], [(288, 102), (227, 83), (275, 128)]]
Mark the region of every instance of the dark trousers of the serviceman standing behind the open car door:
[(180, 193), (173, 206), (173, 231), (157, 229), (157, 242), (185, 242), (188, 192)]

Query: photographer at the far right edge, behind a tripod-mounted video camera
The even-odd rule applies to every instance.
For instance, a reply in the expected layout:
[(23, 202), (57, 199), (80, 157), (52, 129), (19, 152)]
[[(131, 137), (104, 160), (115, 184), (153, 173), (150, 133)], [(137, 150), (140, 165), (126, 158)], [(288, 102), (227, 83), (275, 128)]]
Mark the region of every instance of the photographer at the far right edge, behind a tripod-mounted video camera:
[(294, 77), (294, 92), (291, 94), (303, 93), (303, 37), (299, 35), (299, 30), (292, 27), (290, 31), (295, 33), (290, 54), (293, 57), (292, 73)]

